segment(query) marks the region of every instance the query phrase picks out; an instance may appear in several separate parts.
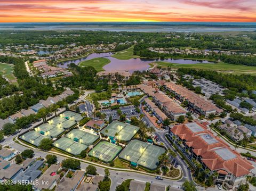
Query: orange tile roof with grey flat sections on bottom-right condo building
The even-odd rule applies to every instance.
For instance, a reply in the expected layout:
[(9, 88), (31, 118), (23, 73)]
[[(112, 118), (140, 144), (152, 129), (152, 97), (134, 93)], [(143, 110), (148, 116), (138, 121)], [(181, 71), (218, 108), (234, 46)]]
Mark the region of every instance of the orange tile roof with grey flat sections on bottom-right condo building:
[[(193, 148), (193, 152), (202, 157), (202, 161), (210, 170), (224, 170), (233, 173), (235, 177), (250, 173), (253, 166), (249, 161), (243, 159), (236, 151), (231, 150), (223, 140), (215, 137), (203, 124), (196, 122), (196, 125), (199, 128), (194, 131), (189, 128), (191, 123), (173, 126), (171, 131), (186, 140)], [(210, 139), (214, 139), (214, 141), (209, 142), (202, 135), (209, 135)]]

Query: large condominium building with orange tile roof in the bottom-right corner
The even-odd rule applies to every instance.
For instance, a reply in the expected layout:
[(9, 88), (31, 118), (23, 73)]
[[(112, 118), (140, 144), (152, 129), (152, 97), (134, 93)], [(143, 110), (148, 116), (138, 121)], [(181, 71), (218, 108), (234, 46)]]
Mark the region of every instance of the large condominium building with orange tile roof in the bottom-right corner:
[(228, 189), (244, 184), (246, 175), (254, 168), (238, 152), (231, 150), (222, 139), (215, 137), (202, 123), (193, 122), (170, 127), (168, 136), (191, 165), (196, 168), (195, 163), (201, 163), (201, 170), (209, 169), (210, 174), (217, 172), (216, 182)]

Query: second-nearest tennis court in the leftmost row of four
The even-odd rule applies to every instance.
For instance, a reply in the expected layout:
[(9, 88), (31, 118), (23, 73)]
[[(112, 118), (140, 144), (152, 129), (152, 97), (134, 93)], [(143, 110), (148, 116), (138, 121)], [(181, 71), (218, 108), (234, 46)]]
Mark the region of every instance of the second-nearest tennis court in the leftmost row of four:
[(36, 127), (35, 131), (39, 132), (39, 134), (41, 135), (47, 135), (52, 138), (56, 138), (65, 130), (63, 128), (53, 126), (49, 123), (43, 123), (40, 126)]

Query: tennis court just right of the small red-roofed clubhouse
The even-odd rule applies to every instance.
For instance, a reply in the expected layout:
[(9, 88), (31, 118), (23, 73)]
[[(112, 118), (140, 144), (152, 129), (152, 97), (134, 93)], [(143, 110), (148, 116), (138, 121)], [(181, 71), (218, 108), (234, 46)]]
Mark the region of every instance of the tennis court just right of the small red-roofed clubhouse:
[[(115, 137), (119, 140), (129, 141), (138, 132), (140, 128), (132, 124), (113, 121), (108, 127), (101, 130), (101, 133), (108, 137)], [(106, 132), (107, 131), (107, 132)], [(116, 134), (118, 134), (116, 136)]]

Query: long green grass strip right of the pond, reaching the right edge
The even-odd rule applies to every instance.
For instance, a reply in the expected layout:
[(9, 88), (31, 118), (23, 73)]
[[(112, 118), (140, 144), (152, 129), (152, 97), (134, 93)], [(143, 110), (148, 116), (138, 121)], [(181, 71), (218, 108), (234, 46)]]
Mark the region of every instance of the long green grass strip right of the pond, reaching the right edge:
[[(194, 68), (194, 69), (205, 69), (205, 70), (217, 70), (220, 72), (227, 72), (232, 74), (252, 74), (256, 75), (256, 67), (250, 67), (246, 65), (235, 65), (219, 62), (215, 64), (173, 64), (168, 62), (158, 61), (155, 62), (161, 67), (172, 67), (172, 68)], [(150, 64), (153, 65), (153, 64)]]

